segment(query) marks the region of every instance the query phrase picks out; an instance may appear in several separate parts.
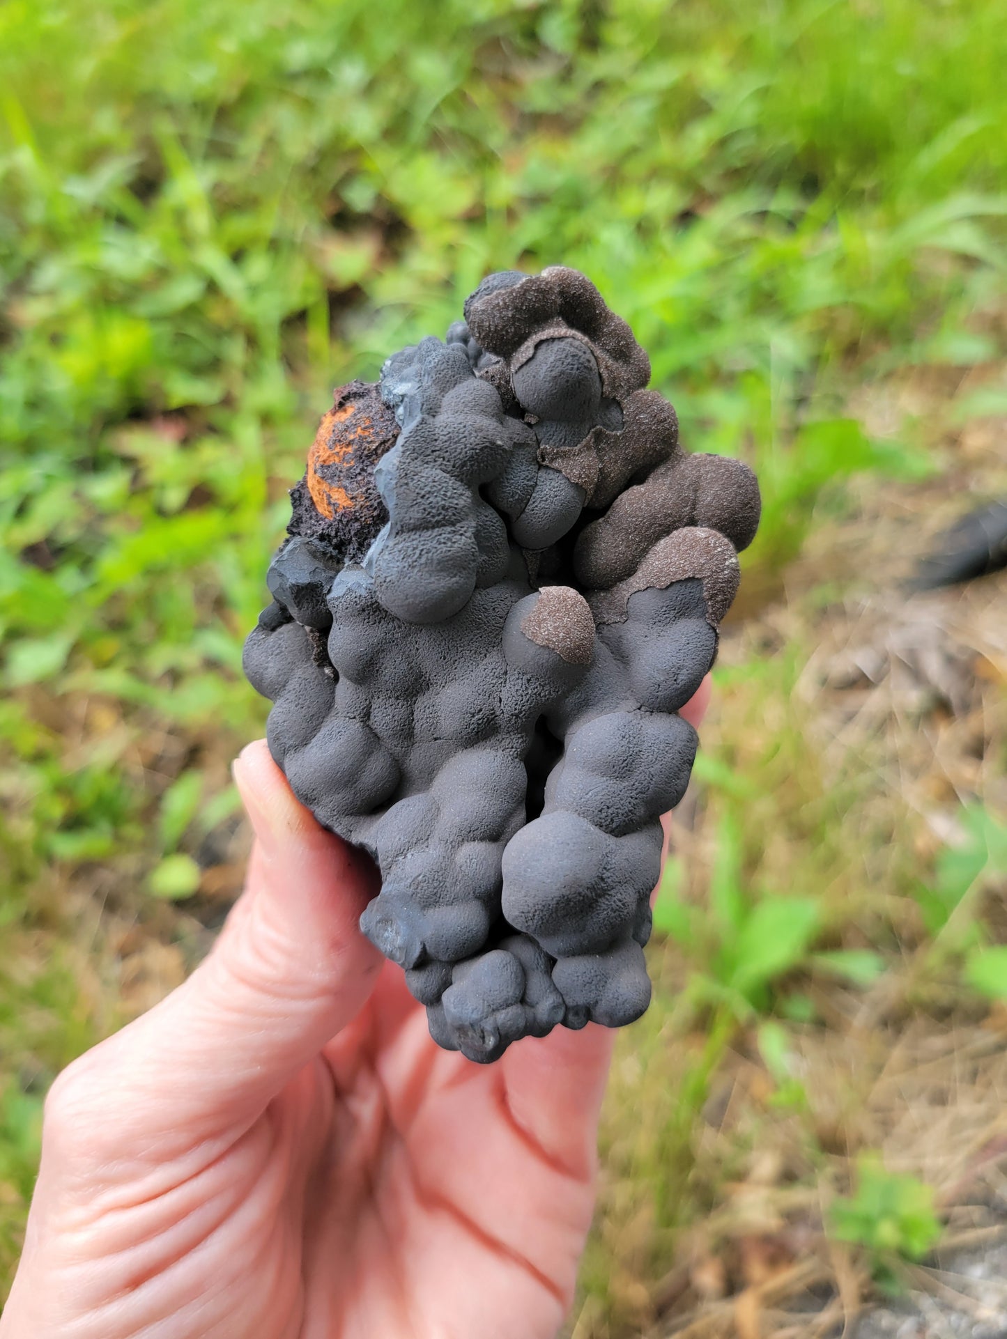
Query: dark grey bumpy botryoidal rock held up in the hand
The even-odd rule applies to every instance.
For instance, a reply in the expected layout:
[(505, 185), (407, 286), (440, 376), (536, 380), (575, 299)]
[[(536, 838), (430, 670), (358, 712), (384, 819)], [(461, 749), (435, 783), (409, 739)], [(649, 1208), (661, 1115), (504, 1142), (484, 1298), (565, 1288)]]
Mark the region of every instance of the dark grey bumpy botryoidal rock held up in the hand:
[(364, 932), (473, 1060), (649, 1002), (678, 711), (759, 494), (648, 379), (583, 274), (491, 274), (336, 392), (245, 645), (295, 794), (378, 862)]

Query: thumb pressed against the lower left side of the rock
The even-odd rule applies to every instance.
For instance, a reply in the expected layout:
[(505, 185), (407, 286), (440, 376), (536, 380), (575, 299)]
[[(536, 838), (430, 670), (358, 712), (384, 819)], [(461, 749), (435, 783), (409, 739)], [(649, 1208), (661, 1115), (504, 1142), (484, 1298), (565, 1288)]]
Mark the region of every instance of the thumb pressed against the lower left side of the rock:
[(253, 1121), (358, 1014), (380, 968), (358, 925), (376, 892), (370, 861), (297, 803), (264, 742), (234, 779), (256, 841), (217, 944), (182, 987), (76, 1062), (78, 1090), (106, 1094), (118, 1139), (197, 1141)]

